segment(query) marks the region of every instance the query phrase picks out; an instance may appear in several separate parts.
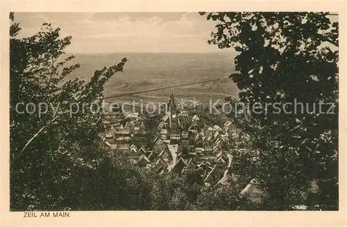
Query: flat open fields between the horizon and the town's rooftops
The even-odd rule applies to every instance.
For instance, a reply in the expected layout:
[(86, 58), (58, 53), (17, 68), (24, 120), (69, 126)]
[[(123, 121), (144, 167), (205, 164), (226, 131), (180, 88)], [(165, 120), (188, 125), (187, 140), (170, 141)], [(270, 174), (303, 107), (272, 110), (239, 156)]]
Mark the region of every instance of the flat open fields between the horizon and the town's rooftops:
[(203, 80), (221, 80), (109, 98), (108, 102), (163, 102), (171, 92), (174, 92), (175, 98), (196, 98), (203, 104), (208, 104), (210, 99), (215, 102), (228, 96), (237, 96), (236, 85), (228, 79), (234, 69), (232, 53), (76, 54), (74, 62), (79, 62), (81, 68), (74, 72), (74, 76), (88, 80), (96, 69), (116, 64), (122, 57), (128, 59), (124, 73), (117, 73), (106, 84), (105, 98)]

